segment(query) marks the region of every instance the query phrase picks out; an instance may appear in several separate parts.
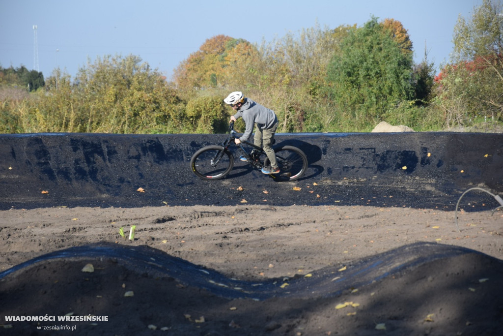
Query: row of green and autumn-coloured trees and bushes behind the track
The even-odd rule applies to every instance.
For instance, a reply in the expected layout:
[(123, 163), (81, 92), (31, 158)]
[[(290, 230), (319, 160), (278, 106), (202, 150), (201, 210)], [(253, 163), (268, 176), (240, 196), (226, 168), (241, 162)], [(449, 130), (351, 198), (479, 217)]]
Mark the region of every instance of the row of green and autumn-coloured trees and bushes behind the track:
[[(402, 24), (371, 17), (360, 27), (315, 26), (252, 44), (207, 39), (173, 79), (136, 55), (106, 55), (75, 78), (44, 81), (0, 67), (0, 132), (221, 133), (242, 91), (278, 114), (279, 132), (361, 132), (380, 121), (416, 131), (503, 122), (503, 6), (484, 0), (454, 27), (454, 50), (437, 75), (413, 62)], [(242, 127), (242, 124), (237, 124)]]

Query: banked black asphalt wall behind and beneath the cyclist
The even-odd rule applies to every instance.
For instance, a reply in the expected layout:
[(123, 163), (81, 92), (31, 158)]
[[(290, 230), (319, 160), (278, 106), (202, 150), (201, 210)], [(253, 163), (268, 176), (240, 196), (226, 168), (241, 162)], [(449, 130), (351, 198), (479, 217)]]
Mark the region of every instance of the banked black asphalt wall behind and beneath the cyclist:
[[(300, 180), (276, 182), (240, 162), (236, 148), (235, 167), (226, 178), (197, 178), (189, 167), (191, 156), (204, 146), (221, 144), (225, 137), (2, 135), (0, 209), (227, 206), (244, 199), (247, 204), (275, 206), (454, 210), (468, 188), (503, 190), (502, 134), (278, 134), (276, 146), (296, 146), (307, 156), (309, 167)], [(291, 192), (294, 186), (302, 190)], [(487, 204), (476, 193), (466, 195), (465, 201), (473, 210), (484, 210), (482, 204)]]

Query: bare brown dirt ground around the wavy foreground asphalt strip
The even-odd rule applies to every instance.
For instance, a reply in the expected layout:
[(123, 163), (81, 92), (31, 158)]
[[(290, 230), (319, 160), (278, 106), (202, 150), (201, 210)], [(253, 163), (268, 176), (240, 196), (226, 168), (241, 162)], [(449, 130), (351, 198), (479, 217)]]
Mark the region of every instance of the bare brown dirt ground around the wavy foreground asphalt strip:
[[(52, 259), (0, 280), (0, 334), (501, 335), (503, 211), (458, 211), (461, 232), (455, 216), (430, 209), (245, 204), (2, 211), (0, 272), (48, 252), (111, 243), (148, 246), (229, 279), (275, 280), (278, 290), (287, 290), (292, 279), (332, 270), (335, 280), (358, 260), (417, 242), (477, 252), (418, 262), (338, 294), (264, 300), (225, 298), (118, 258)], [(133, 225), (134, 239), (121, 237), (119, 229), (127, 237)], [(88, 263), (94, 272), (82, 272)], [(108, 321), (6, 320), (65, 314)]]

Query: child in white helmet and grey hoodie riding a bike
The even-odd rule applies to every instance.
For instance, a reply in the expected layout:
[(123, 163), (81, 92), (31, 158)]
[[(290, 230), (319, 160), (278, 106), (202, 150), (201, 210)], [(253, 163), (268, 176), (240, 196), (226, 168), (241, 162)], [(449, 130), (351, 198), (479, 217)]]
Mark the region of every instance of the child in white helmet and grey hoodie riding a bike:
[[(223, 101), (236, 111), (236, 114), (232, 115), (230, 120), (236, 121), (236, 119), (242, 117), (245, 124), (243, 135), (239, 139), (236, 138), (234, 140), (236, 145), (248, 140), (251, 137), (254, 125), (257, 125), (255, 128), (254, 145), (262, 147), (271, 162), (271, 166), (262, 168), (262, 172), (264, 174), (278, 174), (280, 169), (276, 162), (274, 150), (271, 147), (274, 143), (274, 133), (278, 128), (276, 113), (249, 98), (245, 98), (240, 91), (231, 92)], [(240, 157), (239, 159), (246, 161), (244, 157)]]

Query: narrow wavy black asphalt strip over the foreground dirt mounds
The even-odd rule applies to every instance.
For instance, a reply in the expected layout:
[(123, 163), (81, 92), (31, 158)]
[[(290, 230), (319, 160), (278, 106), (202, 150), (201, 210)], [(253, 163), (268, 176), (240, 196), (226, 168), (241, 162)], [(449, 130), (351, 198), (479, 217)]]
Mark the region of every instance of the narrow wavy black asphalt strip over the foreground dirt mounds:
[[(0, 273), (0, 279), (46, 260), (103, 257), (118, 259), (139, 273), (150, 272), (170, 277), (186, 286), (202, 288), (228, 299), (318, 298), (341, 295), (348, 288), (361, 288), (385, 277), (405, 272), (407, 268), (463, 254), (482, 255), (462, 247), (420, 242), (356, 260), (353, 264), (344, 266), (345, 272), (340, 271), (341, 267), (332, 266), (314, 271), (309, 277), (250, 282), (225, 277), (219, 272), (150, 247), (100, 244), (76, 246), (41, 255)], [(487, 258), (492, 259), (488, 256)], [(503, 264), (499, 266), (503, 268)], [(286, 290), (285, 284), (288, 284)]]

